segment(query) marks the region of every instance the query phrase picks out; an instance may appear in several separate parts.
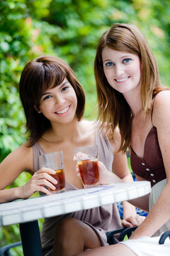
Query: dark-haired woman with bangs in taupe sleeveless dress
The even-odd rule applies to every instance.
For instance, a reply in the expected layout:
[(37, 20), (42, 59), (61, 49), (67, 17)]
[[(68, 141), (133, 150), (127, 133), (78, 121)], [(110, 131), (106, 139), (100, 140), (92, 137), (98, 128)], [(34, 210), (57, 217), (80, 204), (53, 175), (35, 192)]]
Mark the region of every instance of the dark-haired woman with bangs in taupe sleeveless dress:
[[(114, 132), (113, 142), (108, 139), (109, 132), (99, 132), (96, 122), (82, 118), (84, 90), (63, 60), (42, 56), (30, 61), (21, 74), (19, 90), (26, 114), (28, 141), (0, 164), (0, 203), (29, 198), (35, 191), (50, 195), (47, 187), (54, 189), (55, 179), (49, 174), (54, 171), (40, 168), (39, 156), (54, 151), (64, 152), (66, 190), (83, 188), (77, 176), (76, 161), (73, 161), (77, 146), (98, 145), (98, 159), (108, 169), (100, 176), (101, 184), (108, 183), (108, 176), (111, 176), (109, 181), (112, 182), (121, 181), (120, 178), (132, 181), (125, 154), (113, 154), (120, 147), (118, 129)], [(26, 184), (4, 189), (23, 171), (32, 175)], [(113, 176), (112, 171), (118, 176)], [(135, 214), (135, 208), (128, 203), (124, 205), (123, 224), (139, 225), (142, 220)], [(107, 245), (106, 232), (120, 226), (115, 205), (47, 218), (41, 234), (43, 255), (72, 256), (86, 249)]]

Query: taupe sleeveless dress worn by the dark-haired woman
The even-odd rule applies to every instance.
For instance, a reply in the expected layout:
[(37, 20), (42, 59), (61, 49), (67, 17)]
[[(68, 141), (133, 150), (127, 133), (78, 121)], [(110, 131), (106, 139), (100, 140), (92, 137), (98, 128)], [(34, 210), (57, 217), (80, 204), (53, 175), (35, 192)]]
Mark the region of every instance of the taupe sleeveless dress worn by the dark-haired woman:
[[(95, 132), (95, 144), (98, 145), (98, 159), (105, 164), (108, 171), (112, 170), (113, 164), (113, 152), (111, 149), (111, 144), (108, 141), (106, 135), (99, 133), (96, 129)], [(35, 143), (33, 146), (33, 166), (34, 171), (40, 169), (39, 164), (39, 155), (45, 154), (42, 147)], [(66, 190), (79, 189), (73, 186), (71, 183), (66, 181)], [(55, 234), (55, 224), (61, 218), (64, 217), (73, 217), (78, 220), (83, 221), (89, 225), (95, 233), (98, 235), (98, 238), (101, 240), (101, 245), (107, 245), (106, 232), (115, 230), (121, 227), (120, 215), (118, 213), (118, 208), (116, 204), (111, 204), (107, 206), (101, 206), (97, 208), (92, 208), (89, 210), (79, 210), (74, 213), (69, 213), (67, 215), (55, 216), (52, 218), (46, 218), (41, 232), (41, 242), (42, 242), (42, 252), (45, 256), (52, 255), (52, 246), (54, 242)]]

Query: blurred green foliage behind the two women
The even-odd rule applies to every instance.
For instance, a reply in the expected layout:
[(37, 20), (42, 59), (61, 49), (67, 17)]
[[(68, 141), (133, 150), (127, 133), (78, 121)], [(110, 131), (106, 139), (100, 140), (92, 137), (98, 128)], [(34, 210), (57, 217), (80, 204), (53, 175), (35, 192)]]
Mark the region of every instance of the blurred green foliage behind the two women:
[[(169, 0), (0, 0), (0, 14), (0, 161), (26, 140), (18, 80), (38, 55), (59, 56), (71, 65), (86, 91), (85, 117), (94, 119), (98, 38), (113, 23), (134, 23), (157, 58), (162, 83), (170, 85)], [(28, 178), (22, 174), (11, 187)], [(0, 246), (18, 240), (18, 225), (0, 228)], [(13, 255), (23, 255), (21, 248)]]

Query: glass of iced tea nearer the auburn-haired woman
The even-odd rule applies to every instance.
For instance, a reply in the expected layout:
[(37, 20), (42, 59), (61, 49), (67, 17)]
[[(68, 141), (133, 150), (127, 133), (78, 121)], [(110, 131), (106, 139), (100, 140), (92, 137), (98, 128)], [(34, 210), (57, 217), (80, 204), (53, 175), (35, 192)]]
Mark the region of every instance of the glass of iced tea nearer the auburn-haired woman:
[(98, 147), (81, 146), (74, 149), (79, 173), (84, 188), (92, 188), (99, 185), (98, 174)]

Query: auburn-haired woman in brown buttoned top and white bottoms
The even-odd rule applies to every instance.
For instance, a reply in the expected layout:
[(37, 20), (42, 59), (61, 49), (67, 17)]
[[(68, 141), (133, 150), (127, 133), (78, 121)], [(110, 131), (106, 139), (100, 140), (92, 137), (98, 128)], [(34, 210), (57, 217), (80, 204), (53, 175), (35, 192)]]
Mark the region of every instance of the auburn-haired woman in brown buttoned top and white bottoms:
[[(149, 197), (130, 201), (149, 214), (129, 240), (80, 255), (170, 255), (159, 235), (170, 229), (170, 91), (159, 79), (157, 61), (140, 30), (115, 23), (98, 41), (94, 64), (98, 119), (121, 134), (138, 181), (150, 181)], [(145, 200), (145, 201), (144, 201)], [(144, 205), (140, 205), (144, 203)]]

